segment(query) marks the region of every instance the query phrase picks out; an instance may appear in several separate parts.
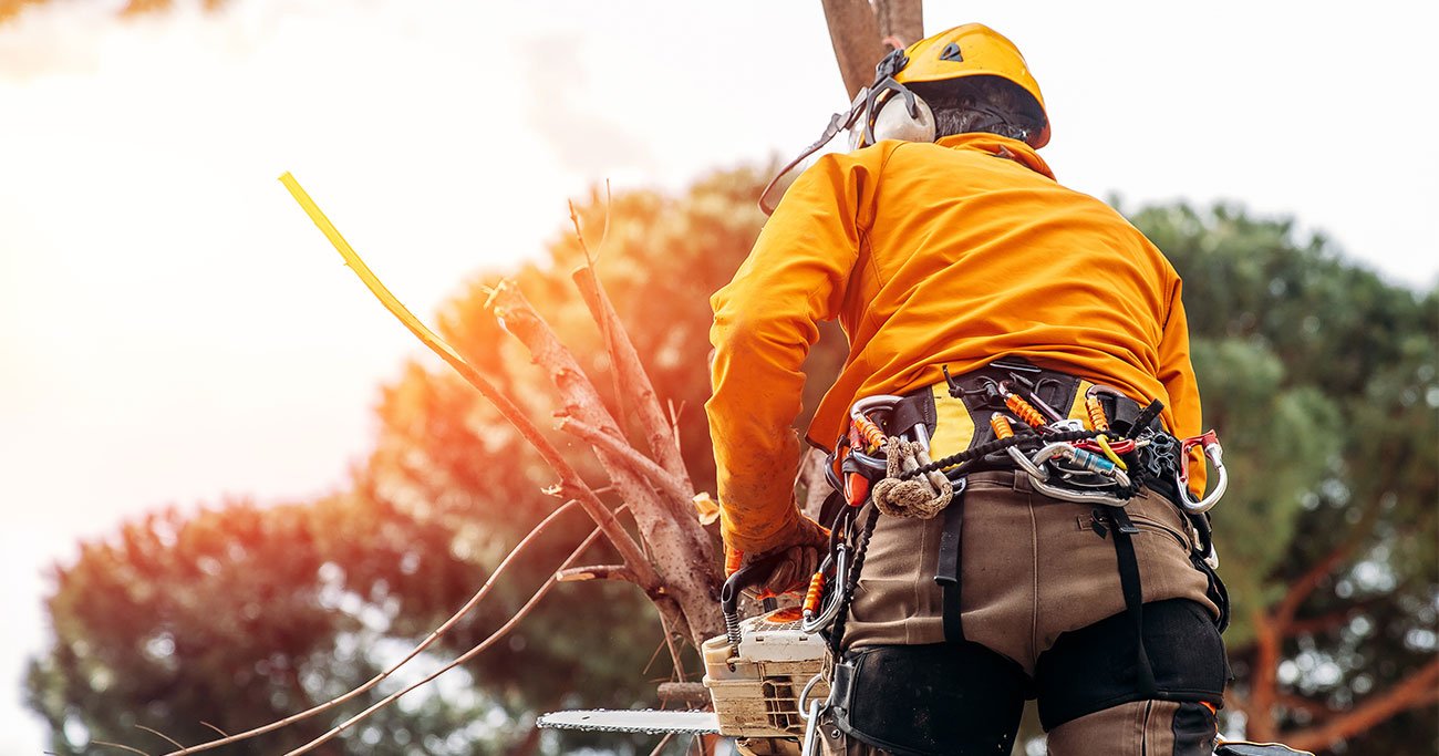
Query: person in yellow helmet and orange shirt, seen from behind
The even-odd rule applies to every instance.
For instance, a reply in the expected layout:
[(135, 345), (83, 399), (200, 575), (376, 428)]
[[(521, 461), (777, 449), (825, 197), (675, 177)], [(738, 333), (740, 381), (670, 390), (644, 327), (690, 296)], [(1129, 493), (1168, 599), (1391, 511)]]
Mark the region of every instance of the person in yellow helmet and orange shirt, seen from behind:
[[(714, 295), (707, 405), (731, 569), (783, 554), (766, 588), (803, 590), (849, 544), (823, 747), (1007, 755), (1038, 697), (1056, 756), (1212, 753), (1219, 454), (1179, 275), (1055, 180), (1039, 85), (984, 26), (891, 53), (848, 122), (856, 148), (799, 176)], [(835, 539), (796, 505), (791, 431), (830, 320), (849, 359), (807, 439), (845, 491)]]

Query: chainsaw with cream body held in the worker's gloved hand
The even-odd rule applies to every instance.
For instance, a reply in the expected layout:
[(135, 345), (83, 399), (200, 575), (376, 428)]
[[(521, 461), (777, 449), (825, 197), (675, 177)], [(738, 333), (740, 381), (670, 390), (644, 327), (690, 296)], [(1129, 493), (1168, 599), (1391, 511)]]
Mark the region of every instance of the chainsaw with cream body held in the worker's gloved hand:
[[(777, 554), (778, 556), (778, 554)], [(740, 592), (768, 575), (773, 559), (737, 570), (720, 593), (725, 634), (704, 642), (704, 687), (711, 710), (576, 710), (538, 719), (540, 727), (643, 734), (721, 734), (740, 753), (797, 756), (813, 729), (829, 684), (820, 674), (827, 647), (806, 631), (799, 606), (740, 619)], [(807, 732), (809, 730), (809, 732)]]

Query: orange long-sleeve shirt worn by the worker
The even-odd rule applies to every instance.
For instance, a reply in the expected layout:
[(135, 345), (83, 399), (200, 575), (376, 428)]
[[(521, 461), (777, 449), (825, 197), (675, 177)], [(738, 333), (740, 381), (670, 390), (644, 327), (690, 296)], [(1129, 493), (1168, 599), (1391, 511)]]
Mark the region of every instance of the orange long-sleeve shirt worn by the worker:
[[(1016, 140), (960, 134), (825, 156), (711, 305), (705, 409), (734, 549), (767, 550), (799, 517), (791, 423), (800, 366), (825, 320), (839, 318), (849, 337), (807, 433), (825, 448), (855, 399), (911, 392), (943, 380), (943, 366), (960, 374), (1006, 354), (1160, 399), (1167, 428), (1199, 433), (1174, 268)], [(1193, 482), (1203, 490), (1202, 469)]]

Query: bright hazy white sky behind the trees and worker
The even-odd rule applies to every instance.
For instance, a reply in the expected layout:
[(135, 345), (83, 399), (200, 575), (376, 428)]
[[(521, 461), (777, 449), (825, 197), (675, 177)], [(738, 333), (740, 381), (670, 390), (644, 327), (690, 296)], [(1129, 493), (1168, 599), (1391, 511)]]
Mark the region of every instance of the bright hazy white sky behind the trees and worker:
[[(157, 505), (341, 485), (419, 353), (276, 176), (427, 317), (537, 255), (590, 183), (789, 156), (845, 104), (817, 0), (115, 4), (0, 26), (4, 755), (45, 746), (19, 684), (47, 564)], [(981, 20), (1026, 52), (1061, 181), (1294, 215), (1427, 287), (1420, 7), (931, 0), (927, 30)]]

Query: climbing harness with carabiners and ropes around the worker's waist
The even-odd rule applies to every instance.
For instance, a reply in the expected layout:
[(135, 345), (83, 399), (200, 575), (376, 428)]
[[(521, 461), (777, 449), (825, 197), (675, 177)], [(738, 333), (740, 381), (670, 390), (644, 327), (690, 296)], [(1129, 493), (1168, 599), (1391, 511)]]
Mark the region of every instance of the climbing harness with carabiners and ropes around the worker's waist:
[[(1220, 629), (1227, 624), (1227, 595), (1215, 573), (1217, 556), (1204, 514), (1227, 487), (1223, 451), (1213, 431), (1176, 439), (1158, 423), (1161, 402), (1140, 405), (1115, 389), (1022, 360), (996, 360), (958, 377), (945, 369), (944, 376), (944, 384), (932, 389), (855, 402), (849, 426), (827, 459), (826, 477), (837, 492), (822, 516), (830, 527), (830, 553), (810, 580), (802, 629), (825, 636), (833, 665), (829, 698), (822, 703), (807, 693), (802, 697), (806, 755), (817, 753), (817, 719), (849, 696), (846, 681), (853, 680), (853, 670), (842, 661), (845, 622), (881, 514), (943, 514), (934, 580), (944, 589), (945, 639), (964, 639), (960, 536), (966, 481), (973, 472), (1014, 471), (1050, 498), (1092, 504), (1095, 531), (1112, 534), (1125, 624), (1132, 624), (1135, 634), (1143, 626), (1143, 590), (1132, 536), (1140, 530), (1125, 504), (1143, 488), (1156, 490), (1179, 504), (1189, 520), (1196, 544), (1191, 563), (1209, 580), (1210, 598), (1220, 608)], [(958, 409), (941, 409), (943, 402), (953, 400), (958, 400)], [(958, 433), (963, 448), (931, 459), (931, 444), (940, 441), (935, 432), (953, 432), (938, 422), (940, 412), (948, 413), (947, 423), (964, 426)], [(1212, 491), (1200, 500), (1189, 491), (1189, 455), (1196, 446), (1217, 472)], [(1135, 638), (1138, 684), (1141, 691), (1153, 691), (1153, 667), (1141, 636)]]

